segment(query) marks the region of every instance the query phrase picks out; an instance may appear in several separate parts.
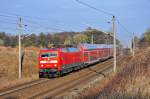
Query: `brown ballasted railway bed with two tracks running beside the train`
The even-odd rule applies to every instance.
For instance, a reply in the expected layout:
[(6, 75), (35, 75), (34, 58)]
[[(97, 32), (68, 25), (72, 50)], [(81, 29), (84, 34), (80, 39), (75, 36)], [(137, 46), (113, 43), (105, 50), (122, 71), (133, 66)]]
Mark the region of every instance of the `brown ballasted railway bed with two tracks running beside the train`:
[[(121, 58), (119, 58), (121, 60)], [(112, 67), (112, 59), (92, 66), (93, 70), (97, 70), (99, 73)], [(107, 68), (106, 68), (107, 67)], [(56, 78), (56, 79), (40, 79), (22, 86), (9, 88), (7, 90), (0, 91), (0, 98), (43, 98), (54, 97), (68, 89), (86, 82), (88, 79), (94, 77), (97, 73), (89, 71), (88, 68), (79, 72), (71, 73), (70, 75)], [(65, 85), (65, 86), (64, 86)]]

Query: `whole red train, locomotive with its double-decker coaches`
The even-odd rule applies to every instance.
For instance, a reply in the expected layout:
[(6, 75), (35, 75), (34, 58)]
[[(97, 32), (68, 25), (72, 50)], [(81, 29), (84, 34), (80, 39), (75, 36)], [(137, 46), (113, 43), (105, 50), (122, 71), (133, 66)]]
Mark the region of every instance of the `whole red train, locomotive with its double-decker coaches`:
[(112, 45), (80, 44), (77, 48), (50, 48), (39, 52), (39, 77), (56, 77), (112, 57)]

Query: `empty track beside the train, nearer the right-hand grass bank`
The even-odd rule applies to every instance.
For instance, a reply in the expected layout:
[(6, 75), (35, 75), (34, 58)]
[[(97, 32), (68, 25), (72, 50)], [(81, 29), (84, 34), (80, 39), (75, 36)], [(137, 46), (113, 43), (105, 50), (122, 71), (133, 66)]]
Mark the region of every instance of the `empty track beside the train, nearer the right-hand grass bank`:
[[(109, 67), (107, 68), (104, 68), (102, 69), (101, 71), (105, 71), (107, 69), (109, 69)], [(101, 71), (98, 71), (98, 72), (101, 72)], [(82, 75), (81, 79), (80, 78), (77, 78), (77, 79), (73, 79), (73, 80), (70, 80), (70, 81), (67, 81), (66, 83), (63, 83), (59, 86), (57, 86), (55, 89), (50, 89), (50, 90), (47, 90), (46, 92), (42, 92), (38, 95), (35, 95), (35, 96), (32, 96), (30, 97), (30, 99), (36, 99), (36, 98), (53, 98), (55, 96), (58, 96), (60, 94), (63, 94), (64, 92), (66, 92), (67, 90), (73, 88), (74, 86), (77, 86), (81, 83), (85, 83), (87, 82), (90, 78), (96, 76), (97, 74), (91, 74), (91, 73), (88, 73), (86, 75)], [(65, 86), (63, 86), (65, 85)]]

